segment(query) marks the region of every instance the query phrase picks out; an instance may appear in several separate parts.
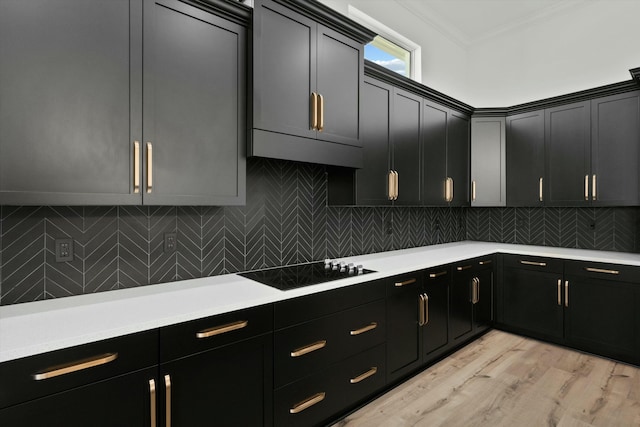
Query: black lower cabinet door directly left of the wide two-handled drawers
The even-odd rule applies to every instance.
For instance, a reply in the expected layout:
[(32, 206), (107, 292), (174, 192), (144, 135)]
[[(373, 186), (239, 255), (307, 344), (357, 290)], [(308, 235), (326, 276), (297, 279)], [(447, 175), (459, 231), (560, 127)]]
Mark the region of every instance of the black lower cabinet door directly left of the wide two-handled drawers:
[(267, 334), (160, 365), (163, 421), (170, 413), (175, 427), (272, 425), (272, 348)]

